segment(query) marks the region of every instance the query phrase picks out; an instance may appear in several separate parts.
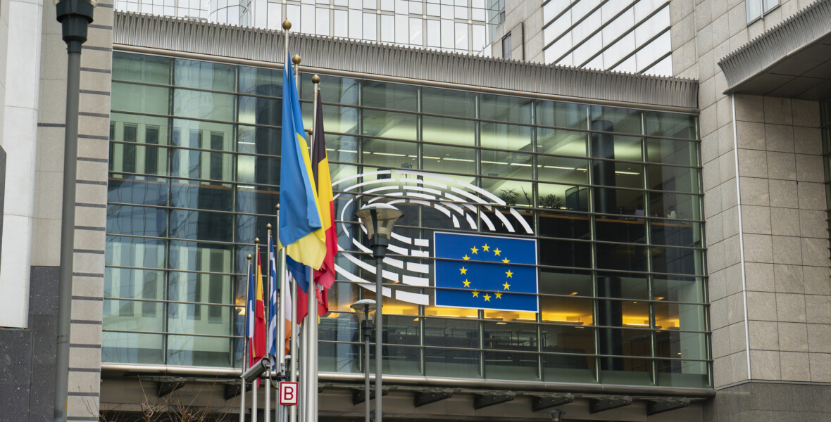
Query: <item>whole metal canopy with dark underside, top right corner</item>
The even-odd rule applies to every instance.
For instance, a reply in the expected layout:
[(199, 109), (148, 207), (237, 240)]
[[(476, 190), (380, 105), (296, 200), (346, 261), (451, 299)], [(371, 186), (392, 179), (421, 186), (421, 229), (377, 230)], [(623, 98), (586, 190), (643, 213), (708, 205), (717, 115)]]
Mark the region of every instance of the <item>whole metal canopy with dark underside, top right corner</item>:
[(725, 94), (831, 96), (831, 0), (819, 0), (719, 61)]

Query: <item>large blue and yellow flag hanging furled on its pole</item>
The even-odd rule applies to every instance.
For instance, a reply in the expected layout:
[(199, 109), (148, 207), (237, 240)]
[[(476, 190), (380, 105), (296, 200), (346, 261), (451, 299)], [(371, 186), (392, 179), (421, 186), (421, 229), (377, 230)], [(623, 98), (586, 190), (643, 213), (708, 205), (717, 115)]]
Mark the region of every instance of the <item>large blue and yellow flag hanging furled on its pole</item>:
[(283, 138), (280, 149), (280, 244), (298, 263), (320, 269), (326, 233), (317, 207), (306, 133), (291, 55), (283, 70)]

